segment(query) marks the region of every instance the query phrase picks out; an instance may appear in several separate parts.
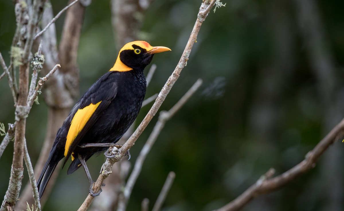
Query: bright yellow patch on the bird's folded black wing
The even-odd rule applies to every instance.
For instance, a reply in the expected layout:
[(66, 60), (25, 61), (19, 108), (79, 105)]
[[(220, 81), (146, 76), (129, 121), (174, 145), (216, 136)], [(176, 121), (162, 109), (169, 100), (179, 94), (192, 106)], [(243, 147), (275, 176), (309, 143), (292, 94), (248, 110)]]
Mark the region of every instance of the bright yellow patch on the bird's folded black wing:
[(68, 130), (64, 156), (67, 156), (69, 147), (71, 147), (73, 141), (80, 133), (80, 131), (84, 128), (89, 118), (91, 118), (92, 114), (95, 112), (100, 103), (101, 101), (96, 104), (91, 103), (85, 108), (77, 110), (72, 119), (71, 127), (69, 127)]

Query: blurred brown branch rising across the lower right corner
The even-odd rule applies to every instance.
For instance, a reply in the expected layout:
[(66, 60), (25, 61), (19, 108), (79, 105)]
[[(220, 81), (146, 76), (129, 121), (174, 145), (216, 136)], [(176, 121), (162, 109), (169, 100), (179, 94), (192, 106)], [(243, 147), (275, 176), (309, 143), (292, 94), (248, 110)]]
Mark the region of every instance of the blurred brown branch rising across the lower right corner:
[(234, 199), (232, 202), (226, 204), (224, 207), (214, 210), (214, 211), (234, 211), (240, 210), (252, 199), (262, 195), (275, 191), (282, 186), (296, 180), (304, 173), (315, 167), (316, 162), (318, 162), (319, 157), (324, 153), (324, 151), (329, 148), (338, 138), (344, 135), (344, 119), (336, 125), (329, 134), (327, 134), (315, 147), (313, 150), (309, 151), (305, 156), (305, 159), (301, 161), (298, 165), (289, 169), (288, 171), (282, 173), (279, 176), (273, 178), (259, 179), (255, 184), (249, 187), (244, 193), (239, 197)]

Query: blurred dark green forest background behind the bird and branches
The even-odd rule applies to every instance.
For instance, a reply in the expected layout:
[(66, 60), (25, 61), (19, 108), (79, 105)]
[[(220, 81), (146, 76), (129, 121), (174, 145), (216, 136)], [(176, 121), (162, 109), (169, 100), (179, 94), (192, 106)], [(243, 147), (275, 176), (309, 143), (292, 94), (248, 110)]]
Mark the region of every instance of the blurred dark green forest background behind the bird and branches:
[[(203, 23), (190, 60), (160, 110), (170, 109), (197, 78), (204, 83), (160, 134), (128, 210), (139, 210), (143, 198), (149, 198), (152, 207), (169, 171), (176, 178), (163, 211), (219, 208), (269, 168), (278, 175), (299, 163), (343, 118), (344, 1), (223, 3), (226, 7), (211, 11)], [(54, 14), (66, 4), (52, 2)], [(121, 48), (115, 45), (109, 4), (93, 1), (86, 9), (78, 54), (81, 94), (112, 67)], [(154, 56), (158, 68), (147, 97), (160, 91), (178, 63), (200, 4), (156, 0), (147, 10), (140, 36), (153, 46), (172, 49)], [(64, 15), (56, 21), (58, 40), (63, 20)], [(1, 0), (0, 51), (7, 64), (14, 30), (14, 4)], [(6, 78), (0, 88), (0, 122), (6, 125), (14, 122)], [(47, 124), (47, 107), (41, 96), (39, 101), (27, 119), (33, 165)], [(141, 109), (138, 122), (148, 110)], [(132, 164), (156, 120), (131, 148)], [(343, 148), (337, 141), (309, 173), (243, 210), (343, 210)], [(11, 142), (1, 157), (0, 196), (8, 187), (12, 153)], [(103, 161), (102, 155), (88, 161), (93, 177)], [(67, 176), (63, 169), (44, 210), (76, 210), (87, 190), (84, 171)]]

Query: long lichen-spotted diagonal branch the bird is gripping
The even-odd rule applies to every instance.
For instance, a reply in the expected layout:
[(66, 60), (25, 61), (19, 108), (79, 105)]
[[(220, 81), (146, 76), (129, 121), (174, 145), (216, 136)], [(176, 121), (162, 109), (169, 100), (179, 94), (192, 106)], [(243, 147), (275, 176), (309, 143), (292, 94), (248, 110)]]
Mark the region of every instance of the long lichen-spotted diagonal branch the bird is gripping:
[[(162, 87), (158, 98), (155, 100), (153, 106), (149, 110), (148, 114), (144, 119), (142, 120), (141, 124), (139, 127), (135, 130), (135, 132), (130, 136), (130, 138), (126, 141), (126, 143), (114, 154), (114, 157), (111, 159), (107, 158), (105, 163), (109, 163), (109, 168), (104, 168), (103, 165), (103, 170), (105, 169), (106, 172), (110, 172), (112, 169), (112, 166), (114, 165), (115, 162), (118, 162), (122, 157), (125, 156), (126, 152), (130, 149), (135, 144), (135, 141), (138, 139), (138, 137), (142, 134), (143, 130), (147, 127), (149, 122), (152, 120), (153, 116), (158, 112), (158, 109), (160, 108), (161, 104), (165, 100), (166, 96), (170, 92), (172, 86), (174, 83), (178, 80), (179, 75), (183, 68), (186, 66), (187, 60), (189, 60), (189, 55), (191, 53), (191, 49), (193, 44), (196, 41), (197, 34), (201, 29), (202, 23), (204, 22), (205, 18), (207, 17), (208, 13), (204, 13), (203, 11), (208, 11), (214, 6), (216, 0), (212, 0), (211, 2), (204, 1), (201, 4), (200, 7), (200, 12), (198, 12), (197, 15), (197, 20), (195, 22), (194, 28), (192, 30), (192, 33), (190, 35), (189, 40), (187, 41), (187, 44), (185, 46), (184, 52), (181, 56), (180, 61), (178, 62), (177, 66), (175, 67), (172, 75), (169, 77), (169, 79), (166, 81), (165, 85)], [(114, 148), (112, 148), (114, 149)], [(112, 151), (112, 150), (111, 150)], [(111, 155), (111, 152), (109, 153)], [(94, 192), (98, 192), (100, 190), (101, 184), (103, 184), (104, 179), (107, 177), (107, 173), (104, 175), (101, 173), (94, 183)], [(86, 210), (90, 203), (93, 201), (92, 196), (88, 194), (87, 198), (85, 199), (84, 203), (80, 206), (79, 211)]]

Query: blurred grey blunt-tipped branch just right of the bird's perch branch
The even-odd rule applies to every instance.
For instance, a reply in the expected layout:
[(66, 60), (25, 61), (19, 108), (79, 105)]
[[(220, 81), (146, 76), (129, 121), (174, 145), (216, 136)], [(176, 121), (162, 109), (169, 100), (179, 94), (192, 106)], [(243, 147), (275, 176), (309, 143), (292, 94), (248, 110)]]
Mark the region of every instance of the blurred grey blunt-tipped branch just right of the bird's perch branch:
[(184, 94), (184, 96), (169, 110), (161, 111), (159, 115), (159, 120), (155, 124), (152, 133), (149, 135), (147, 142), (142, 147), (140, 154), (138, 155), (134, 168), (128, 178), (126, 187), (124, 188), (123, 194), (120, 196), (120, 201), (118, 202), (118, 211), (124, 211), (127, 208), (127, 204), (132, 192), (132, 189), (139, 177), (143, 162), (146, 159), (148, 153), (153, 147), (155, 141), (157, 140), (162, 128), (165, 126), (166, 122), (186, 103), (186, 101), (197, 91), (201, 86), (202, 80), (198, 79), (194, 85)]

